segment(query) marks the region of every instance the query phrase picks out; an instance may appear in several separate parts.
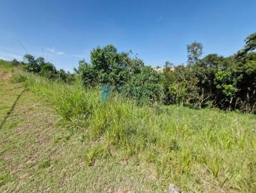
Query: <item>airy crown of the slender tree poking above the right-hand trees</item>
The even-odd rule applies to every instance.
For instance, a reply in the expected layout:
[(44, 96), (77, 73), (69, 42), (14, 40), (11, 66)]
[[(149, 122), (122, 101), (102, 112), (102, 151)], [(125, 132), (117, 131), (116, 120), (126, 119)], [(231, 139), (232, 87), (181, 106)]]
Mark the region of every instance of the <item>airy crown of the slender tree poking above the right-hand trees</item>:
[(187, 45), (188, 65), (195, 65), (203, 53), (203, 45), (200, 42), (193, 42)]

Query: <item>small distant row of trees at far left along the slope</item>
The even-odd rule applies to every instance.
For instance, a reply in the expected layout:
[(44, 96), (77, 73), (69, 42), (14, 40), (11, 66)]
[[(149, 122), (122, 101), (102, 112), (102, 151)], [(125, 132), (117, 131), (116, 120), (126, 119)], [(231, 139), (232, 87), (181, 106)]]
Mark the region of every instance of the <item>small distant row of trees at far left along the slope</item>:
[(38, 73), (48, 79), (54, 79), (63, 82), (73, 82), (75, 80), (74, 73), (65, 72), (65, 70), (56, 70), (56, 67), (49, 62), (45, 62), (43, 57), (35, 59), (34, 56), (26, 54), (23, 57), (23, 61), (17, 61), (13, 59), (12, 64), (15, 66), (24, 66), (28, 72)]

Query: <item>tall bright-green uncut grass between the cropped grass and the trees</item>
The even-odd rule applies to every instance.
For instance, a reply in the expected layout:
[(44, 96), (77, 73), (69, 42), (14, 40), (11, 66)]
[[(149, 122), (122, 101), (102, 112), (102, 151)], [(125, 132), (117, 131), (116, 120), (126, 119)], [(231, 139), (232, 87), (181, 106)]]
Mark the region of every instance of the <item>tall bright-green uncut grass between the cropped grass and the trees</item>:
[[(99, 89), (52, 82), (26, 73), (26, 87), (51, 102), (64, 120), (82, 124), (124, 157), (154, 167), (161, 183), (185, 191), (256, 192), (256, 118), (218, 109), (193, 110), (177, 105), (137, 106), (112, 96), (100, 103)], [(100, 153), (104, 150), (103, 153)], [(88, 154), (109, 155), (106, 148)]]

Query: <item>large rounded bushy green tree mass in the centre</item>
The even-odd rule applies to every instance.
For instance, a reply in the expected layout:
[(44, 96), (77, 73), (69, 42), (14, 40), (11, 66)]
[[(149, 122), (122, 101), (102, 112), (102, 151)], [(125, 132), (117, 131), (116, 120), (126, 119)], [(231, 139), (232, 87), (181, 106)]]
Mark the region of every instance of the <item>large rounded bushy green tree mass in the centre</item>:
[(84, 60), (79, 62), (77, 72), (84, 86), (113, 86), (139, 104), (161, 101), (162, 77), (140, 59), (132, 59), (129, 53), (118, 53), (113, 45), (107, 45), (92, 50), (91, 62), (90, 65)]

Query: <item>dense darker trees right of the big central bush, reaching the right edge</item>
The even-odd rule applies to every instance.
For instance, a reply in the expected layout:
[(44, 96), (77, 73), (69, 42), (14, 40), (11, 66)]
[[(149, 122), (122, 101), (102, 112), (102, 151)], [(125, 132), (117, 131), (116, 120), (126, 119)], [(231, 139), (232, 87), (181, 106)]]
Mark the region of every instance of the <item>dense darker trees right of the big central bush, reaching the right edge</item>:
[(203, 46), (188, 45), (188, 65), (164, 68), (164, 103), (193, 107), (256, 112), (256, 33), (246, 38), (244, 48), (227, 58), (208, 54)]

